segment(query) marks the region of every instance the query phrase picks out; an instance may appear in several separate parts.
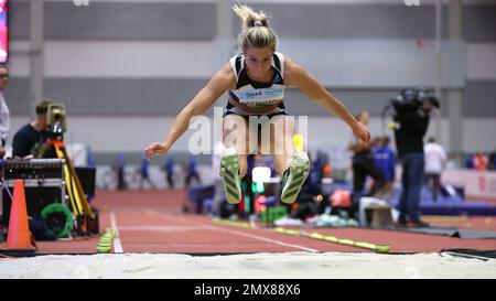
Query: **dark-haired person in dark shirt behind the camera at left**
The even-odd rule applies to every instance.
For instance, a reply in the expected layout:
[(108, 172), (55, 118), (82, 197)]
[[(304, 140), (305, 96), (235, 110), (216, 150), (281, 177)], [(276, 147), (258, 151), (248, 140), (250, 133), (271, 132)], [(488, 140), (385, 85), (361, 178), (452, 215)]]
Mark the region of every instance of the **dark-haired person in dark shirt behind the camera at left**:
[[(36, 106), (36, 117), (20, 128), (12, 142), (13, 158), (42, 158), (44, 146), (50, 135), (46, 123), (46, 111), (52, 100), (43, 100)], [(51, 158), (56, 158), (54, 154)]]

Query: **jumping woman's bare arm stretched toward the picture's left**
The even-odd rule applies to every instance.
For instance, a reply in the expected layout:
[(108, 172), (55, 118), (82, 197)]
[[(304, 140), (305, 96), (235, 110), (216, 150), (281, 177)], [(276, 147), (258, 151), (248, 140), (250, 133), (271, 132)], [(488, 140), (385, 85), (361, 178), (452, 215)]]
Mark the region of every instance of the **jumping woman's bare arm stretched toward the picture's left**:
[(172, 144), (187, 130), (190, 119), (204, 114), (226, 90), (236, 85), (236, 77), (229, 64), (226, 64), (208, 84), (187, 104), (172, 125), (164, 142), (153, 142), (144, 149), (144, 157), (150, 159), (157, 153), (166, 153)]

